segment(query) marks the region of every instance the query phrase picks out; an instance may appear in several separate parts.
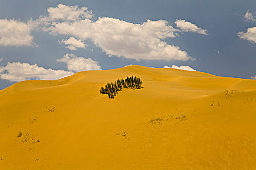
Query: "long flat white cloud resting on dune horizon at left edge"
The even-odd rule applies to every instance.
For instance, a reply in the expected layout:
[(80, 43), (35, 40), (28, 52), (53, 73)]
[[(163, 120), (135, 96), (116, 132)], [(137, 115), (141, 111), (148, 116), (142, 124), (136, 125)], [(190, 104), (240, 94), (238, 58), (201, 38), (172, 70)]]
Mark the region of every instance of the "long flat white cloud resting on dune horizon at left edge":
[(37, 64), (8, 62), (5, 67), (0, 67), (0, 78), (11, 82), (30, 79), (56, 80), (73, 74), (72, 71), (45, 69)]

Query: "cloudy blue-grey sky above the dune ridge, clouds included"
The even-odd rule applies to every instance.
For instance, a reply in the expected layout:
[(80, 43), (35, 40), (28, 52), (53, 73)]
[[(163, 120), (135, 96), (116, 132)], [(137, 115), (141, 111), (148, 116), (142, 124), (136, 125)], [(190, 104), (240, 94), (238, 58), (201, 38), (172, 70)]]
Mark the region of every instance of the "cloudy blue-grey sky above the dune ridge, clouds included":
[(0, 0), (0, 89), (130, 64), (255, 79), (255, 54), (255, 0)]

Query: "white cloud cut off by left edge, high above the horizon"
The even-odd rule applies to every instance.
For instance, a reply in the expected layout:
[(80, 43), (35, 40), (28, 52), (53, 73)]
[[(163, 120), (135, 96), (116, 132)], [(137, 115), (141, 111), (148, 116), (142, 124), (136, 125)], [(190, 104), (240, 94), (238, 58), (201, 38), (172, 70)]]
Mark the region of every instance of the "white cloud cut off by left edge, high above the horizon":
[(13, 19), (0, 19), (1, 46), (36, 46), (31, 35), (32, 27)]

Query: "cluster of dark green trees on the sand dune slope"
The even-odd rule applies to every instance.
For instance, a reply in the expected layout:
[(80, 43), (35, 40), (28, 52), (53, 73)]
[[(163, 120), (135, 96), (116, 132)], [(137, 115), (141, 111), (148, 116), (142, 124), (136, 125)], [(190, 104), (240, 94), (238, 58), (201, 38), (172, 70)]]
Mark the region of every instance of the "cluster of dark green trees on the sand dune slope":
[(101, 87), (99, 92), (104, 95), (108, 95), (109, 98), (114, 99), (117, 96), (118, 91), (121, 91), (122, 88), (131, 88), (131, 89), (139, 89), (142, 85), (142, 81), (138, 77), (127, 77), (126, 79), (121, 79), (115, 81), (115, 83), (107, 83), (105, 87)]

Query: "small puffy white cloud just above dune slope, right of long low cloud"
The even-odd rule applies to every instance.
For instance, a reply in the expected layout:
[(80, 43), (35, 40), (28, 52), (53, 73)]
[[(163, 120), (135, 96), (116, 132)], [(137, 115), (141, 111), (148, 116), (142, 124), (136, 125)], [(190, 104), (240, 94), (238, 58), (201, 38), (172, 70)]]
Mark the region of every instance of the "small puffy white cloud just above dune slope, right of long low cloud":
[(76, 72), (101, 69), (98, 61), (92, 60), (91, 58), (77, 57), (74, 54), (66, 54), (57, 61), (67, 63), (67, 68)]

